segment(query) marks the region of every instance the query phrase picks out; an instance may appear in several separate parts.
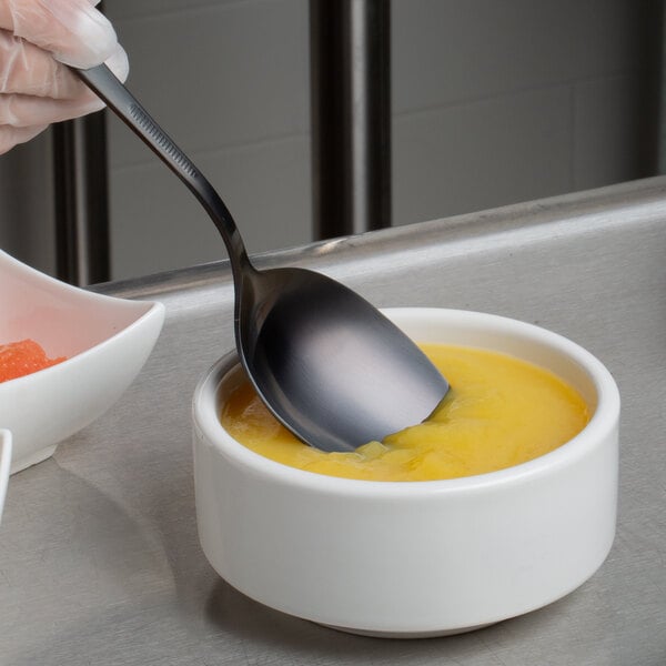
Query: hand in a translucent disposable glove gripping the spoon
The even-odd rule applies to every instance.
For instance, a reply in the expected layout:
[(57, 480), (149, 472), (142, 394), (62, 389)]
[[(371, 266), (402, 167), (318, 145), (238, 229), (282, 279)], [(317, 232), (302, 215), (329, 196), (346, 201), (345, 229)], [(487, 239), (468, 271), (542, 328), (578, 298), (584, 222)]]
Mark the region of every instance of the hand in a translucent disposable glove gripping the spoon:
[(50, 123), (104, 107), (62, 63), (102, 62), (125, 80), (128, 57), (99, 0), (0, 0), (0, 154)]

